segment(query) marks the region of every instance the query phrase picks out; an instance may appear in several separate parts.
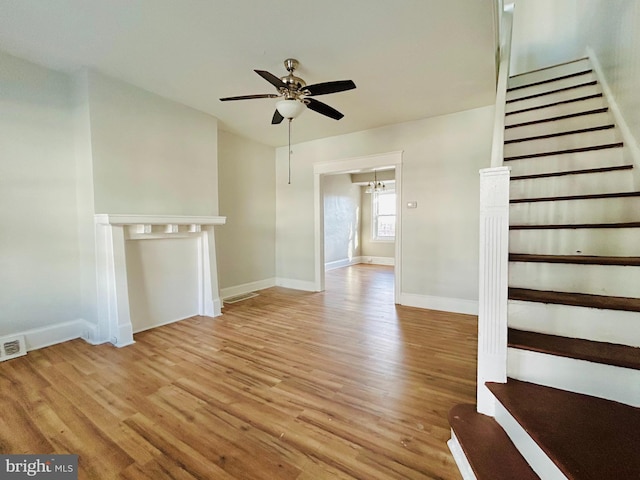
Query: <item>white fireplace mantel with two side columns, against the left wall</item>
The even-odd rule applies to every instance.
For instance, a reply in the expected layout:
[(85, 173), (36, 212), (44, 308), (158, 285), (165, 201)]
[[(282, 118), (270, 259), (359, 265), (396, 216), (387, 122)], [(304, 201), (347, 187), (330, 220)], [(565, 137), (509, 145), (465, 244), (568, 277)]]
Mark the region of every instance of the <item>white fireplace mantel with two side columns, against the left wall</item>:
[(190, 215), (97, 214), (96, 260), (98, 274), (99, 341), (118, 347), (135, 343), (129, 308), (126, 242), (163, 238), (197, 238), (199, 314), (221, 314), (214, 226), (226, 217)]

